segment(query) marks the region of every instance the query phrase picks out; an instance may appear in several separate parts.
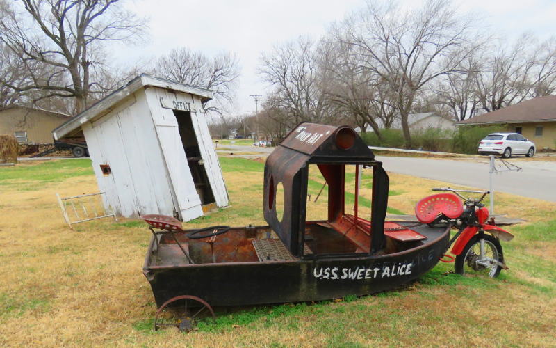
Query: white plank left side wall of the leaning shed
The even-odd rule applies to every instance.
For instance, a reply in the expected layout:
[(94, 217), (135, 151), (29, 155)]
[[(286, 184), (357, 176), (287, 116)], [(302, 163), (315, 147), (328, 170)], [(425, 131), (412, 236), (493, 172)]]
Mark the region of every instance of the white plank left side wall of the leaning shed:
[[(123, 109), (83, 125), (99, 189), (106, 192), (105, 204), (122, 216), (172, 216), (172, 188), (145, 91), (138, 91), (133, 100), (131, 105), (124, 100)], [(101, 164), (108, 164), (112, 173), (104, 175)]]

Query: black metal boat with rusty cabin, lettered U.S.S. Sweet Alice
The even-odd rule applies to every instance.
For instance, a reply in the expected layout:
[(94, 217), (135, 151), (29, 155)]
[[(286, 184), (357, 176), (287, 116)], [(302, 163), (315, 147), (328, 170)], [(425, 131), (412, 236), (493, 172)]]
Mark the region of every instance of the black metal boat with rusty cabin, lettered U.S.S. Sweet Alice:
[[(328, 186), (326, 220), (306, 221), (310, 165)], [(354, 214), (345, 213), (347, 166), (356, 172)], [(358, 216), (363, 168), (373, 175), (370, 221)], [(279, 183), (283, 214), (277, 212)], [(302, 123), (265, 163), (268, 226), (181, 230), (171, 217), (143, 216), (153, 232), (143, 272), (160, 308), (179, 296), (210, 308), (389, 290), (439, 262), (449, 246), (450, 226), (385, 221), (388, 193), (382, 163), (351, 127)]]

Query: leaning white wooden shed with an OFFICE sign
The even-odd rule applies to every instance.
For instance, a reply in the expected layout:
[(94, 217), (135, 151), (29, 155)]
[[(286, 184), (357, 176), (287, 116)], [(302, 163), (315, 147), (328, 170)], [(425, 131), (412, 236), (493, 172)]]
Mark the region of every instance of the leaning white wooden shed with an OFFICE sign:
[(52, 133), (83, 132), (106, 207), (189, 221), (229, 204), (202, 108), (212, 96), (142, 74)]

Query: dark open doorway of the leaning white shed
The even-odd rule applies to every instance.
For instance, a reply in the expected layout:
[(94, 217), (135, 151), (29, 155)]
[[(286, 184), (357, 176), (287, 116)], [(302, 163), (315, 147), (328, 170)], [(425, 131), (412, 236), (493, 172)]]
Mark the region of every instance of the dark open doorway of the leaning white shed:
[(174, 110), (174, 116), (178, 122), (179, 136), (183, 150), (186, 152), (187, 163), (195, 183), (195, 189), (201, 200), (203, 212), (216, 208), (216, 201), (214, 199), (211, 183), (208, 182), (206, 169), (203, 165), (201, 157), (201, 150), (197, 142), (197, 135), (193, 128), (193, 121), (191, 120), (190, 111)]

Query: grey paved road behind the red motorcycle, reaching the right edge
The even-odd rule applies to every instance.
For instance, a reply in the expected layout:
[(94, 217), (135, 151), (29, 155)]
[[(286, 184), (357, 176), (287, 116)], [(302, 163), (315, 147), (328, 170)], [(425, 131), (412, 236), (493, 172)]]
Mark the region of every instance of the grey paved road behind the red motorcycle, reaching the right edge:
[[(488, 161), (453, 161), (419, 157), (382, 157), (386, 171), (425, 177), (453, 184), (489, 189)], [(512, 159), (509, 159), (512, 162)], [(556, 202), (556, 162), (514, 161), (519, 172), (494, 174), (494, 191)]]

